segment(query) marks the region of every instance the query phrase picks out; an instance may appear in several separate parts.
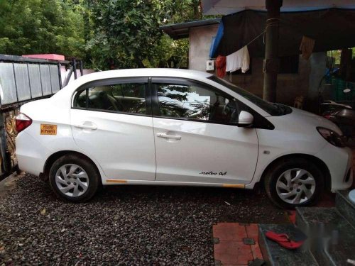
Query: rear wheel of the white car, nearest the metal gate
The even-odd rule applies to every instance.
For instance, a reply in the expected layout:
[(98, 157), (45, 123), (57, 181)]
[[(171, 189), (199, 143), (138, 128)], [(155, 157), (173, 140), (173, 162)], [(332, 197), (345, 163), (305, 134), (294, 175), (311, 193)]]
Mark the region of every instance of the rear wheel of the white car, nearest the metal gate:
[(61, 199), (84, 202), (94, 196), (100, 175), (92, 162), (79, 155), (64, 155), (55, 160), (49, 171), (53, 192)]

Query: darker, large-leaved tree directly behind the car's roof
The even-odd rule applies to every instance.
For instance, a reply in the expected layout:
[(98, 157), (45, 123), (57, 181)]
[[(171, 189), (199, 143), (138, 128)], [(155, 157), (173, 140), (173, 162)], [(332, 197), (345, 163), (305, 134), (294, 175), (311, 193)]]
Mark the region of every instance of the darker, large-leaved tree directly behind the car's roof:
[(94, 68), (187, 67), (187, 40), (159, 30), (202, 17), (200, 0), (92, 0), (94, 37), (86, 47)]

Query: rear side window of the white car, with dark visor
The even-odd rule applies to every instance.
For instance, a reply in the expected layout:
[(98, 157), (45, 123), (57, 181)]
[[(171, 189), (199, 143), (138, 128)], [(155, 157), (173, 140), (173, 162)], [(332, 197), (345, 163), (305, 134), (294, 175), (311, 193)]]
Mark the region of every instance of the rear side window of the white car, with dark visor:
[(84, 89), (75, 107), (124, 113), (146, 113), (146, 84), (122, 83)]

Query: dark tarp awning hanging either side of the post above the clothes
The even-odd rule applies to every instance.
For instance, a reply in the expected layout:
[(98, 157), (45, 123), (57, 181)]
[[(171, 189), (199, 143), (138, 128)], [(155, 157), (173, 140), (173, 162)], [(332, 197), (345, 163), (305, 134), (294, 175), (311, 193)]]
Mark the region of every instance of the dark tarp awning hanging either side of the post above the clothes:
[[(224, 16), (224, 34), (213, 56), (230, 55), (265, 31), (266, 12), (246, 10)], [(315, 39), (314, 52), (355, 46), (355, 10), (283, 12), (280, 14), (279, 55), (299, 53), (302, 36)], [(248, 45), (251, 57), (263, 57), (263, 35)]]

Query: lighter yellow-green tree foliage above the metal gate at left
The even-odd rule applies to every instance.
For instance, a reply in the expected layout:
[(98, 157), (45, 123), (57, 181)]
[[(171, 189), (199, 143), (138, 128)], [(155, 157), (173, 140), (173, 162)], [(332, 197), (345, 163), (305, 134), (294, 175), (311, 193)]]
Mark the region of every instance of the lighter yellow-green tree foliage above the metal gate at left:
[(0, 53), (84, 56), (80, 3), (72, 0), (0, 0)]

